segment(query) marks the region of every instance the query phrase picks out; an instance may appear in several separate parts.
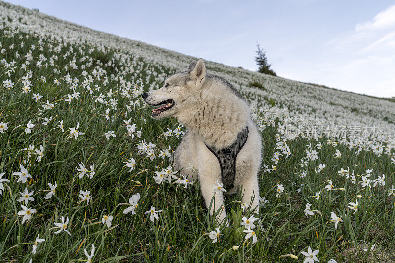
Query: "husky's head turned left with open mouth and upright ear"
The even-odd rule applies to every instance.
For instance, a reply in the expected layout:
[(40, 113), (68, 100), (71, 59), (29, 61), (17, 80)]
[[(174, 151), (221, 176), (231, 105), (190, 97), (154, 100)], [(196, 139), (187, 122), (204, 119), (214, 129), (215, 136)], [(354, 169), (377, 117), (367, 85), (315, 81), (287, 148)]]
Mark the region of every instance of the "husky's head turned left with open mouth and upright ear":
[(168, 77), (162, 88), (146, 92), (144, 101), (159, 106), (151, 112), (154, 119), (177, 117), (177, 113), (188, 111), (199, 102), (199, 90), (206, 80), (206, 65), (203, 59), (191, 62), (185, 72)]

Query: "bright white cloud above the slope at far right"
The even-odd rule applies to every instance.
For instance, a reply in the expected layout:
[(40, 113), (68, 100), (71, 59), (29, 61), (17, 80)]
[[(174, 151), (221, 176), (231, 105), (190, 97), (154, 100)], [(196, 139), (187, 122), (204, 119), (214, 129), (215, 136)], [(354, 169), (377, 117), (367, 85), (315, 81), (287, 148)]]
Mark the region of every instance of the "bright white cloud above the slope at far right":
[[(322, 46), (310, 82), (357, 93), (395, 96), (395, 5)], [(303, 73), (301, 73), (303, 75)]]

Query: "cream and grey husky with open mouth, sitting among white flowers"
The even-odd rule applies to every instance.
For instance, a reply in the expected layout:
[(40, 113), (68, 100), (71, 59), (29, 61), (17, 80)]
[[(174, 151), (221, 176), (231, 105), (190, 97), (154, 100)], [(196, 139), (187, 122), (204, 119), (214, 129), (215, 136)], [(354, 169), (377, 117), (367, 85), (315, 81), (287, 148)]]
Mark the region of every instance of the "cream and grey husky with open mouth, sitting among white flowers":
[[(261, 136), (251, 119), (248, 102), (225, 79), (207, 74), (203, 59), (191, 62), (185, 72), (166, 79), (164, 86), (144, 93), (144, 101), (153, 109), (151, 117), (176, 117), (187, 128), (174, 153), (174, 167), (189, 180), (200, 181), (202, 194), (210, 215), (218, 212), (216, 220), (225, 223), (224, 197), (217, 189), (221, 183), (222, 165), (208, 147), (224, 149), (231, 146), (237, 135), (248, 127), (248, 137), (238, 152), (234, 187), (225, 193), (241, 190), (242, 201), (259, 212), (257, 173), (261, 164)], [(192, 168), (193, 167), (193, 168)]]

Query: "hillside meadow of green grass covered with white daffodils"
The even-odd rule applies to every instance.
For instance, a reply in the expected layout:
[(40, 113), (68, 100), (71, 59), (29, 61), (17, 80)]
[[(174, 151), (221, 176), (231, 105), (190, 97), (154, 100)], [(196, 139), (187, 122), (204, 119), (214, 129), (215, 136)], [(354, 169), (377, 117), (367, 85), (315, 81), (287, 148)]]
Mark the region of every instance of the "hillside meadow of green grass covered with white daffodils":
[(207, 62), (264, 147), (260, 215), (217, 226), (141, 99), (194, 59), (0, 2), (0, 259), (394, 262), (395, 102)]

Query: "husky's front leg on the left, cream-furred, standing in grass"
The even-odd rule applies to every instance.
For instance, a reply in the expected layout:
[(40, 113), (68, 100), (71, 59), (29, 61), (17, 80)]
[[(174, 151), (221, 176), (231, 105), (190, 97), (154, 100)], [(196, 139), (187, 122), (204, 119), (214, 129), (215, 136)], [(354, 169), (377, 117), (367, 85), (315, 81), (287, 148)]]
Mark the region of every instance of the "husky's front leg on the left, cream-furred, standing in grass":
[[(216, 221), (218, 224), (224, 224), (226, 219), (226, 212), (224, 207), (224, 195), (222, 191), (214, 192), (213, 185), (217, 185), (218, 178), (213, 176), (212, 173), (199, 171), (199, 180), (201, 192), (206, 202), (206, 206), (210, 208), (210, 215), (218, 212)], [(214, 200), (213, 200), (214, 198)], [(210, 207), (211, 205), (211, 207)]]

